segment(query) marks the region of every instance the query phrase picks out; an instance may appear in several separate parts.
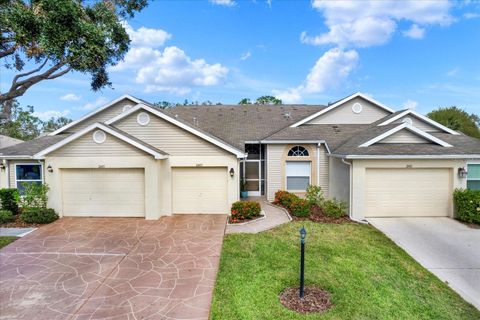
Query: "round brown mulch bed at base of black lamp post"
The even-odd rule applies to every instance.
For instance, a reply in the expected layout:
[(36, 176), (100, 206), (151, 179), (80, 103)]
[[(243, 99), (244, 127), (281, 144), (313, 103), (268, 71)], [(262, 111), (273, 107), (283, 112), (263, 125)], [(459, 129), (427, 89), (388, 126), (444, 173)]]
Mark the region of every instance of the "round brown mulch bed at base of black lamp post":
[(323, 312), (332, 307), (330, 293), (315, 286), (305, 287), (303, 299), (300, 299), (298, 287), (286, 288), (279, 299), (286, 308), (302, 314)]

